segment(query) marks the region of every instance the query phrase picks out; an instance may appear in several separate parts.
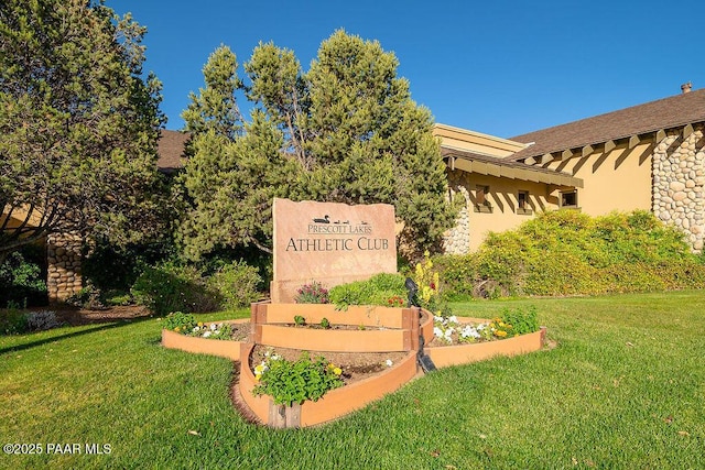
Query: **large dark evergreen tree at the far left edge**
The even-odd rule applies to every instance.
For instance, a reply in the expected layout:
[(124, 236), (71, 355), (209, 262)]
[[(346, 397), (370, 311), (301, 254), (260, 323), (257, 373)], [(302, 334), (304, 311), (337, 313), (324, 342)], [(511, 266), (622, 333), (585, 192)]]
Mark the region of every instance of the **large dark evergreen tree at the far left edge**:
[(54, 232), (159, 231), (164, 118), (144, 32), (102, 1), (0, 3), (0, 258)]

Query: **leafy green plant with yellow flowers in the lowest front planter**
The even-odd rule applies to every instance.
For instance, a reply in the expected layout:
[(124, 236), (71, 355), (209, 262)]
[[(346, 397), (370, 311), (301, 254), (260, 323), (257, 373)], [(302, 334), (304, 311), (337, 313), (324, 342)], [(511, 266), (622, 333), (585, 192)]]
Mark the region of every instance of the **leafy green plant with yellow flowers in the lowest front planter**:
[(306, 400), (317, 401), (329, 390), (343, 386), (343, 370), (323, 356), (311, 359), (303, 351), (296, 361), (288, 361), (271, 351), (254, 367), (254, 395), (270, 395), (275, 404), (291, 406)]

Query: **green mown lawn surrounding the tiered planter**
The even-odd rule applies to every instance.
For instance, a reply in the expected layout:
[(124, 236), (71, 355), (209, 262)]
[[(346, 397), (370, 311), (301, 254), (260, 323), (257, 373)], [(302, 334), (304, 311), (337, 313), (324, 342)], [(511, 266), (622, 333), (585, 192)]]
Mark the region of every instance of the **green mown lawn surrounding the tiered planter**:
[(705, 468), (705, 291), (453, 307), (529, 305), (556, 348), (444, 369), (295, 430), (245, 423), (232, 364), (161, 348), (153, 318), (0, 337), (0, 444), (110, 445), (0, 468)]

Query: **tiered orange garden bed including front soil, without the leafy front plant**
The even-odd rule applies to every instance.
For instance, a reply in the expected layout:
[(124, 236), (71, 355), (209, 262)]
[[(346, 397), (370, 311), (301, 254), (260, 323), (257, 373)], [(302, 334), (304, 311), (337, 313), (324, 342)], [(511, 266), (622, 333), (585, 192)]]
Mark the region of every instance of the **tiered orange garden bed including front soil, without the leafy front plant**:
[[(291, 323), (297, 315), (305, 318), (305, 324)], [(316, 325), (324, 318), (338, 328)], [(467, 325), (490, 320), (457, 321)], [(545, 340), (545, 328), (541, 328), (512, 338), (448, 345), (434, 337), (433, 316), (419, 308), (350, 307), (339, 311), (333, 305), (258, 303), (252, 304), (250, 319), (228, 324), (241, 340), (215, 340), (163, 330), (162, 343), (240, 361), (239, 379), (234, 385), (236, 404), (250, 420), (272, 427), (325, 423), (399, 390), (421, 372), (420, 337), (426, 345), (424, 353), (436, 368), (538, 351)], [(302, 351), (307, 351), (312, 359), (323, 357), (332, 368), (339, 368), (336, 373), (343, 386), (329, 390), (317, 401), (305, 400), (291, 406), (274, 404), (269, 395), (253, 394), (258, 384), (254, 367), (263, 363), (268, 354), (275, 353), (293, 362)]]

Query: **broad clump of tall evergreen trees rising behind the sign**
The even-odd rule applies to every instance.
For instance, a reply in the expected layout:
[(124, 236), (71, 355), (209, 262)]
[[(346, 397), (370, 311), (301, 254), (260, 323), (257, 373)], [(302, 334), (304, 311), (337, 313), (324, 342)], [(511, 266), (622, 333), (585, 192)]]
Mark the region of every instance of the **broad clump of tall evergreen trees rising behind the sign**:
[[(206, 78), (185, 119), (205, 96), (223, 97), (206, 114), (227, 114), (217, 110), (232, 92), (224, 84), (237, 81), (236, 65), (216, 61), (223, 61), (220, 54), (206, 69), (223, 76)], [(250, 84), (242, 88), (254, 105), (245, 133), (230, 139), (187, 121), (197, 149), (184, 179), (193, 200), (182, 230), (187, 252), (197, 258), (214, 247), (248, 243), (271, 251), (274, 196), (392, 204), (404, 222), (404, 247), (437, 247), (453, 222), (445, 165), (431, 113), (412, 101), (398, 65), (378, 42), (344, 31), (324, 41), (307, 73), (289, 50), (272, 43), (256, 47), (245, 65)]]

